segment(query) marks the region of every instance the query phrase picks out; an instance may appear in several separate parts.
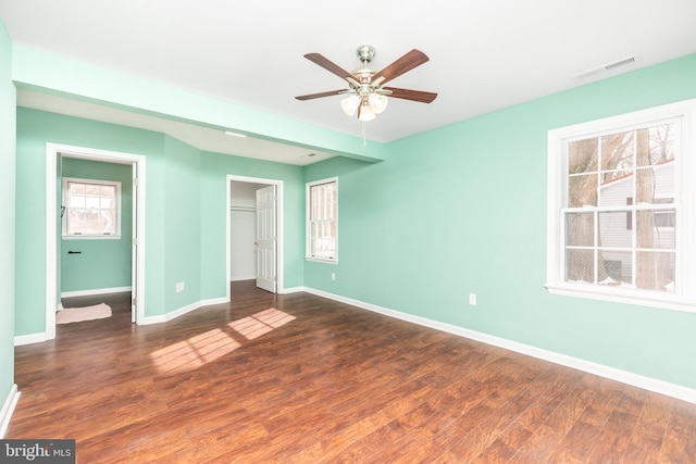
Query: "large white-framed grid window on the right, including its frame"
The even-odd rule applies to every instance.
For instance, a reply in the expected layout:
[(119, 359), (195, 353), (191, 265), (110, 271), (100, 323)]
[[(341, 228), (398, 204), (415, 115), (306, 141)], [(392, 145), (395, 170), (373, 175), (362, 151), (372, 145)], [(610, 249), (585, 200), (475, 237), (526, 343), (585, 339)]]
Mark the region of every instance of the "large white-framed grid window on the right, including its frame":
[(549, 131), (549, 291), (696, 311), (695, 112), (692, 100)]

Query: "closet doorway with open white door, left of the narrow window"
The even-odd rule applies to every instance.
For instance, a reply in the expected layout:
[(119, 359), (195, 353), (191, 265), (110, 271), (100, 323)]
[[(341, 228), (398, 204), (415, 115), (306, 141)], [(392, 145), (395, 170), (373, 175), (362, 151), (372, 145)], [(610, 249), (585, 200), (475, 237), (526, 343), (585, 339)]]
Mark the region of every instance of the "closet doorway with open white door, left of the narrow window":
[(229, 283), (256, 279), (283, 289), (283, 181), (227, 176), (227, 299)]

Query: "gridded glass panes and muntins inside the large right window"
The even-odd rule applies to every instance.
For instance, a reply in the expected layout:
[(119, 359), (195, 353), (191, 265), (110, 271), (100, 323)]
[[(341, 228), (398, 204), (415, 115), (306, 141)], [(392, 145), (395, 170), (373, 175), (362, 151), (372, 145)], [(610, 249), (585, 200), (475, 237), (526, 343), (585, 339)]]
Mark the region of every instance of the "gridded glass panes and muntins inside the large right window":
[[(566, 142), (564, 281), (674, 291), (674, 230), (660, 230), (656, 217), (676, 220), (678, 128), (676, 121), (651, 123)], [(635, 227), (625, 228), (626, 215)]]

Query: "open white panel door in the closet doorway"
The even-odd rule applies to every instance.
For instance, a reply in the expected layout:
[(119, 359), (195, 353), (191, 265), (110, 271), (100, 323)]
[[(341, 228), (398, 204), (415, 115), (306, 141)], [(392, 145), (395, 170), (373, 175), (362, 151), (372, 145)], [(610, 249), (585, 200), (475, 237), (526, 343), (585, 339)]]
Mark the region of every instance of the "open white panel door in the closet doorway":
[(276, 292), (275, 186), (257, 190), (257, 287)]

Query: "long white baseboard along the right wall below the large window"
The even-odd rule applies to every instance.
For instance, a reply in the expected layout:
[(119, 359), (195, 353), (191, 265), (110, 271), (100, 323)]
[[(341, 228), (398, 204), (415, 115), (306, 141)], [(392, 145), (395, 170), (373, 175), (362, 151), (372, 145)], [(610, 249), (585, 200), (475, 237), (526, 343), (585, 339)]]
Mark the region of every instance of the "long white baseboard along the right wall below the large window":
[(668, 397), (676, 398), (679, 400), (683, 400), (683, 401), (687, 401), (689, 403), (696, 404), (696, 390), (692, 388), (683, 387), (681, 385), (670, 384), (668, 381), (658, 380), (651, 377), (645, 377), (645, 376), (630, 373), (626, 371), (609, 367), (602, 364), (597, 364), (589, 361), (581, 360), (579, 358), (569, 356), (566, 354), (559, 354), (552, 351), (543, 350), (540, 348), (532, 347), (529, 344), (519, 343), (517, 341), (507, 340), (505, 338), (499, 338), (499, 337), (483, 334), (480, 331), (465, 329), (463, 327), (442, 323), (438, 321), (428, 319), (426, 317), (415, 316), (413, 314), (389, 310), (387, 308), (377, 306), (375, 304), (365, 303), (363, 301), (353, 300), (350, 298), (341, 297), (339, 294), (328, 293), (322, 290), (306, 288), (304, 291), (307, 291), (308, 293), (316, 294), (319, 297), (328, 298), (330, 300), (340, 301), (343, 303), (347, 303), (363, 310), (380, 313), (389, 317), (394, 317), (397, 319), (434, 328), (436, 330), (446, 331), (448, 334), (458, 335), (460, 337), (469, 338), (471, 340), (481, 341), (483, 343), (504, 348), (506, 350), (514, 351), (521, 354), (526, 354), (529, 356), (537, 358), (539, 360), (548, 361), (555, 364), (560, 364), (567, 367), (572, 367), (589, 374), (598, 375), (600, 377), (621, 381), (626, 385), (632, 385), (634, 387), (638, 387), (649, 391), (655, 391), (656, 393), (666, 394)]

